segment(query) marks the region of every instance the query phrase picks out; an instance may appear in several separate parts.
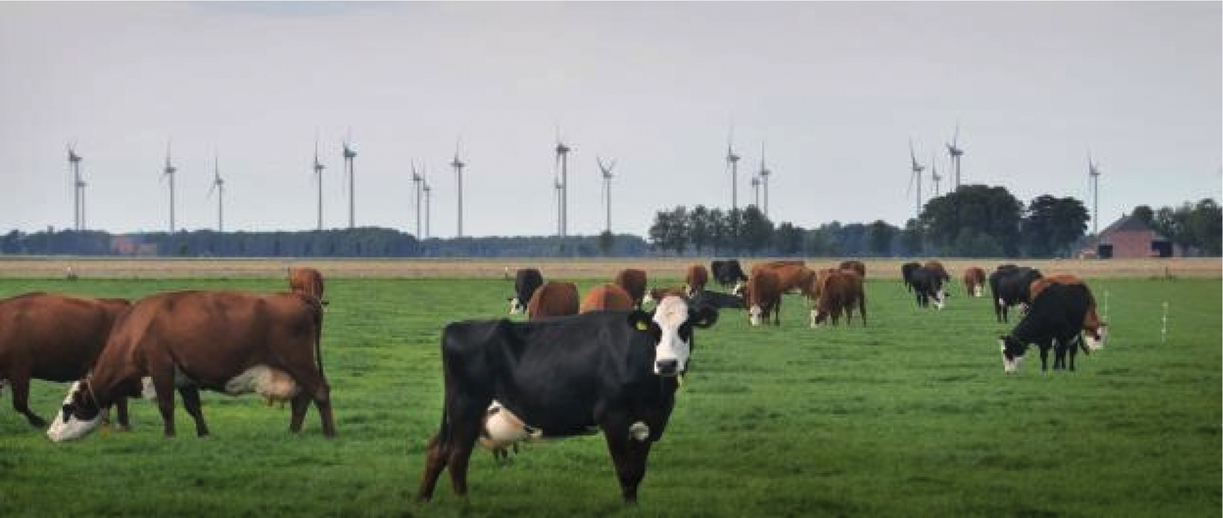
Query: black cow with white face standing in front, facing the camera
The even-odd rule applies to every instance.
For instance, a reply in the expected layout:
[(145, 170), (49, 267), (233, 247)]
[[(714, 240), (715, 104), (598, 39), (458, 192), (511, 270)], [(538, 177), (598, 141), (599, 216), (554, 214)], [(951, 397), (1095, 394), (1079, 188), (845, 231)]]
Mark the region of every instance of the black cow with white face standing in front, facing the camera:
[(539, 437), (602, 430), (625, 502), (637, 500), (651, 446), (663, 437), (695, 327), (718, 313), (667, 297), (654, 312), (599, 312), (536, 323), (465, 321), (442, 332), (442, 424), (429, 441), (417, 498), (442, 470), (467, 495), (467, 465), (495, 399)]

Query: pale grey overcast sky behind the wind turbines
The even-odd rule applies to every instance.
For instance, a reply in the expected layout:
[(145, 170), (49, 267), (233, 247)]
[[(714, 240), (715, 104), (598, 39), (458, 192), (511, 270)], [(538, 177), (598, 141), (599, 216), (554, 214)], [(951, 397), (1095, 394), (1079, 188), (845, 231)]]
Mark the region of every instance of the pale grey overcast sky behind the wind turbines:
[[(1101, 227), (1135, 205), (1218, 199), (1223, 4), (1208, 2), (0, 2), (0, 230), (72, 224), (65, 143), (84, 156), (87, 224), (227, 230), (357, 224), (412, 231), (410, 160), (433, 184), (434, 236), (555, 230), (558, 125), (570, 154), (570, 233), (603, 227), (596, 155), (615, 158), (613, 227), (656, 210), (739, 203), (766, 143), (774, 221), (914, 215), (909, 139), (950, 184), (1049, 193)], [(922, 187), (932, 193), (929, 170)]]

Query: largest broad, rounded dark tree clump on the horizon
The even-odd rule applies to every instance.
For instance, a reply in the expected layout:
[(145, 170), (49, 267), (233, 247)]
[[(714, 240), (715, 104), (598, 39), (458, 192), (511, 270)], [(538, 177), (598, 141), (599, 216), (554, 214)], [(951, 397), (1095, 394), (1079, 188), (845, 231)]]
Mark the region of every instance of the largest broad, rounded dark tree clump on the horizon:
[(956, 242), (969, 230), (967, 236), (989, 236), (1002, 246), (1003, 255), (1015, 257), (1022, 209), (1024, 204), (1004, 187), (961, 186), (929, 200), (921, 213), (921, 224), (929, 242), (943, 253), (963, 254), (956, 252)]

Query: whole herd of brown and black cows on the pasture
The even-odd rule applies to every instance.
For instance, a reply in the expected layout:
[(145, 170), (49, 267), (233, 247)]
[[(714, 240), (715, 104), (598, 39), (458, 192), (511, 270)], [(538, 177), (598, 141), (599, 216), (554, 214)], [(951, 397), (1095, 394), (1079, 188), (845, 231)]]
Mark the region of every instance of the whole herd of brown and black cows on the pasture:
[[(712, 271), (712, 275), (711, 275)], [(335, 436), (330, 388), (323, 373), (323, 277), (309, 268), (289, 271), (290, 292), (180, 291), (136, 302), (27, 293), (0, 301), (0, 387), (12, 390), (13, 409), (31, 425), (48, 426), (28, 407), (29, 380), (73, 382), (46, 430), (54, 441), (79, 439), (116, 409), (126, 428), (128, 398), (155, 398), (165, 436), (175, 435), (175, 392), (208, 435), (199, 390), (257, 392), (290, 402), (290, 430), (300, 431), (311, 403), (323, 434)], [(709, 280), (724, 291), (711, 290)], [(523, 440), (602, 431), (621, 496), (635, 501), (651, 445), (662, 439), (696, 345), (723, 309), (746, 312), (758, 326), (780, 325), (786, 293), (806, 298), (810, 325), (857, 310), (867, 325), (866, 266), (844, 261), (811, 269), (801, 260), (759, 263), (750, 274), (737, 260), (693, 264), (685, 283), (649, 287), (643, 270), (625, 269), (585, 297), (571, 282), (545, 281), (537, 269), (517, 270), (510, 319), (453, 323), (442, 332), (444, 408), (426, 452), (418, 498), (432, 498), (449, 467), (451, 485), (466, 495), (471, 452), (479, 443), (499, 459)], [(950, 275), (938, 261), (901, 266), (916, 304), (947, 304)], [(997, 321), (1009, 308), (1024, 314), (1000, 336), (1003, 367), (1019, 368), (1029, 345), (1047, 369), (1075, 369), (1079, 349), (1103, 347), (1107, 325), (1087, 286), (1070, 275), (1000, 265), (986, 276), (967, 268), (965, 292), (981, 297), (988, 282)], [(648, 310), (647, 310), (648, 308)], [(1069, 353), (1069, 365), (1065, 357)]]

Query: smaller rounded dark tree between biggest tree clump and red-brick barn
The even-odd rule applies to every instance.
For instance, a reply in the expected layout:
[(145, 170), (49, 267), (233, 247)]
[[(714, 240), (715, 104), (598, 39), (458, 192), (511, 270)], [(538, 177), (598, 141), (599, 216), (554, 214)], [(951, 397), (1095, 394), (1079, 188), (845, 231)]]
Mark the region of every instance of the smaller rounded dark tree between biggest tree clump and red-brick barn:
[(1090, 219), (1077, 199), (1040, 195), (1027, 205), (1020, 225), (1024, 249), (1029, 257), (1066, 257)]

